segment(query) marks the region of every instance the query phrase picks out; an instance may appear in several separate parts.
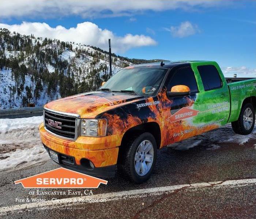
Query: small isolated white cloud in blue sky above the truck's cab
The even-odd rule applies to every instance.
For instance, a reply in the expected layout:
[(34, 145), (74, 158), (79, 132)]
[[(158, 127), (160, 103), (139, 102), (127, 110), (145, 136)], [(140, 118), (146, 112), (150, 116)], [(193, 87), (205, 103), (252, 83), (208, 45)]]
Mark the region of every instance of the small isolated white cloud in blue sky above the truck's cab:
[(199, 28), (196, 24), (192, 24), (188, 21), (182, 22), (179, 26), (170, 28), (164, 28), (166, 31), (171, 32), (173, 37), (188, 37), (200, 32)]

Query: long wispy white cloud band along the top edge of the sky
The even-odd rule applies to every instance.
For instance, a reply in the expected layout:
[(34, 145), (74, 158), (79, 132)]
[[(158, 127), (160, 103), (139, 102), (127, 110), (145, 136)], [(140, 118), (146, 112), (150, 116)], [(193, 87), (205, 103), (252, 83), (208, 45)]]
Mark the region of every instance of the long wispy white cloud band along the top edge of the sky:
[(230, 4), (222, 0), (1, 0), (0, 18), (23, 16), (60, 18), (82, 16), (95, 18), (106, 16), (131, 16), (145, 10), (165, 11), (169, 9), (198, 9)]

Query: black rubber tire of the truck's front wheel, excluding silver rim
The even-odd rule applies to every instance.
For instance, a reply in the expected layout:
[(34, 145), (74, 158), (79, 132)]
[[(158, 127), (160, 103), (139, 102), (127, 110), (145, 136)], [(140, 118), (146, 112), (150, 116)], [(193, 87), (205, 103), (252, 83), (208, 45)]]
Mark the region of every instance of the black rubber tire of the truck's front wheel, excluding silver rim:
[[(152, 143), (154, 156), (150, 170), (144, 176), (140, 176), (135, 170), (135, 154), (140, 143), (144, 140)], [(125, 145), (121, 146), (119, 156), (118, 171), (121, 176), (135, 183), (144, 183), (150, 178), (157, 159), (157, 143), (154, 136), (149, 132), (134, 136)]]

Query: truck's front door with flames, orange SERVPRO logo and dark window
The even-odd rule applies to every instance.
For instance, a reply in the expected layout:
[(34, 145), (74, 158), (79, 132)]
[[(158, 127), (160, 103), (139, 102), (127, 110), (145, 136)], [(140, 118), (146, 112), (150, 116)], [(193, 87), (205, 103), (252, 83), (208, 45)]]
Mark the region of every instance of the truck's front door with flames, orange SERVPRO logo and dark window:
[(165, 82), (166, 91), (171, 91), (175, 85), (186, 85), (191, 94), (174, 97), (167, 95), (167, 100), (163, 103), (165, 145), (199, 134), (201, 130), (197, 126), (205, 124), (204, 97), (197, 87), (195, 73), (190, 65), (177, 68), (169, 73)]

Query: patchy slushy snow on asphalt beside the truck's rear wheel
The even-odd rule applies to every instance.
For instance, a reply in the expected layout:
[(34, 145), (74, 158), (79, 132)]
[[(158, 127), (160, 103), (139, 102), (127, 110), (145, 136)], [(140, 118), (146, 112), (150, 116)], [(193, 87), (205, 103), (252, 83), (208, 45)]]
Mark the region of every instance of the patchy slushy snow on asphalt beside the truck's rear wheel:
[(256, 141), (256, 126), (251, 134), (238, 135), (233, 131), (231, 124), (229, 123), (202, 135), (197, 135), (184, 141), (174, 143), (168, 147), (175, 150), (188, 150), (192, 147), (202, 145), (206, 146), (207, 150), (217, 150), (221, 147), (219, 145), (221, 143), (238, 143), (244, 145), (249, 139), (255, 139)]

